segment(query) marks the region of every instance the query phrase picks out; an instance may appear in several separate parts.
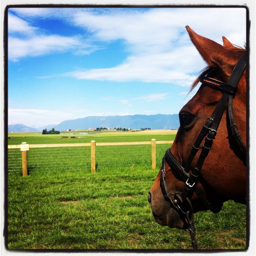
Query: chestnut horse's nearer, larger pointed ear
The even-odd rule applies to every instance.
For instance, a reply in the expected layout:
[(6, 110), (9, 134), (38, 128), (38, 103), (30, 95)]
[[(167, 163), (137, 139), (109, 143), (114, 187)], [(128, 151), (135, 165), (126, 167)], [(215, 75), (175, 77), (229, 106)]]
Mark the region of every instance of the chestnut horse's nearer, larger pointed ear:
[[(190, 39), (209, 66), (220, 68), (229, 76), (237, 62), (237, 57), (230, 48), (226, 48), (208, 38), (196, 34), (186, 26)], [(230, 43), (231, 44), (231, 43)]]

